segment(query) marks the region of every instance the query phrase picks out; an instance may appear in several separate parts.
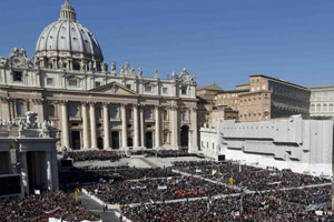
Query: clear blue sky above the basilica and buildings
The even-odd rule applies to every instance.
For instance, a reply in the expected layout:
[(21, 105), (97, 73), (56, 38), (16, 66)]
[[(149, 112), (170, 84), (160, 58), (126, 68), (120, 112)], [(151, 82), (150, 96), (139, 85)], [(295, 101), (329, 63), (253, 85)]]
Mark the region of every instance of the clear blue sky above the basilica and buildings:
[[(0, 0), (0, 56), (35, 56), (65, 0)], [(160, 78), (186, 67), (198, 87), (224, 90), (255, 73), (304, 87), (334, 85), (333, 0), (70, 0), (105, 62)]]

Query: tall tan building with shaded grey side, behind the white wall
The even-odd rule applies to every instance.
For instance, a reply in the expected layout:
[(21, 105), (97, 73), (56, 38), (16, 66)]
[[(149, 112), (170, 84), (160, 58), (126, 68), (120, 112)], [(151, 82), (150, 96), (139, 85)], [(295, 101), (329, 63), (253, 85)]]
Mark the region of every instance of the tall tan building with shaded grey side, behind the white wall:
[(243, 122), (310, 113), (306, 88), (262, 74), (250, 75), (249, 91), (238, 98), (239, 121)]

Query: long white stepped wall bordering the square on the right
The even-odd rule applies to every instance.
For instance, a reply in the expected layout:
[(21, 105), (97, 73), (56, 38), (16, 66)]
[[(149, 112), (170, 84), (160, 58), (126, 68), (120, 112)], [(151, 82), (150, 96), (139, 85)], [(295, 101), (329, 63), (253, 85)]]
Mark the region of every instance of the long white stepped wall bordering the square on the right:
[(226, 159), (299, 173), (332, 174), (332, 120), (303, 120), (293, 115), (276, 121), (224, 121), (218, 127), (218, 138)]

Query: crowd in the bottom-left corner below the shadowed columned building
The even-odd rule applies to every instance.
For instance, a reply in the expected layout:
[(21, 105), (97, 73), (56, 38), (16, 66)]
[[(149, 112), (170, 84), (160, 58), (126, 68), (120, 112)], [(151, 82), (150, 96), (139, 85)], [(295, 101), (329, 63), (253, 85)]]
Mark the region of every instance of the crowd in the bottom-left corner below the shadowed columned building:
[(0, 221), (48, 221), (46, 212), (55, 209), (58, 210), (55, 213), (50, 213), (52, 218), (66, 221), (99, 220), (96, 214), (82, 208), (72, 198), (61, 191), (55, 191), (41, 195), (30, 195), (24, 199), (0, 199)]

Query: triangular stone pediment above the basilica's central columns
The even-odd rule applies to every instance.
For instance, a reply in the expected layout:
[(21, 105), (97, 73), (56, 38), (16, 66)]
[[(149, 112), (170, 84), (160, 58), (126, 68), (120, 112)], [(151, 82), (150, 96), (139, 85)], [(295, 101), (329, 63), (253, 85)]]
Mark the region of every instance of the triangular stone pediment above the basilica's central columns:
[(122, 94), (122, 95), (138, 95), (137, 92), (121, 85), (117, 82), (110, 82), (108, 84), (104, 84), (97, 88), (89, 90), (90, 92), (100, 92), (107, 94)]

